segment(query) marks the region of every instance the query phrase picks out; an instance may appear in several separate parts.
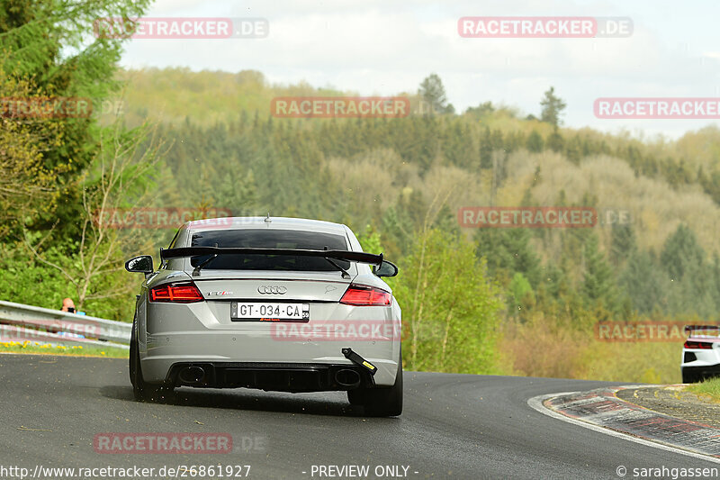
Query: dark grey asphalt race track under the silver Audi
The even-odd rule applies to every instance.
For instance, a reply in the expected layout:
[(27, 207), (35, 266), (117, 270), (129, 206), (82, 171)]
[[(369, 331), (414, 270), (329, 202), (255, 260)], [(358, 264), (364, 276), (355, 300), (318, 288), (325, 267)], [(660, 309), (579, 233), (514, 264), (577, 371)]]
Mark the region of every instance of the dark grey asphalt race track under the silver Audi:
[[(626, 478), (633, 468), (719, 466), (527, 405), (539, 394), (611, 385), (603, 382), (406, 372), (405, 410), (392, 419), (364, 417), (341, 393), (181, 389), (173, 403), (136, 403), (127, 362), (110, 358), (2, 355), (0, 385), (0, 466), (31, 470), (250, 465), (250, 478), (294, 479), (320, 478), (313, 465), (367, 465), (371, 473), (410, 466), (410, 478), (537, 479), (618, 478), (617, 466), (628, 468)], [(95, 434), (115, 431), (227, 432), (235, 451), (96, 453)]]

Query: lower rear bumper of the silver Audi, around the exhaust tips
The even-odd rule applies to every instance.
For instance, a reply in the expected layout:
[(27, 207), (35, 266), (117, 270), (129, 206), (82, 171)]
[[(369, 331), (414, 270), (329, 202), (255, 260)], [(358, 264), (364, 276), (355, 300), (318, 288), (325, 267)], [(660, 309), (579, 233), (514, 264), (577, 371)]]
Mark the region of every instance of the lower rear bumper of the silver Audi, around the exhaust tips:
[[(348, 347), (377, 367), (374, 376), (345, 358), (342, 349)], [(246, 386), (288, 392), (391, 386), (399, 358), (400, 340), (279, 341), (239, 331), (164, 333), (148, 336), (146, 345), (140, 346), (142, 375), (150, 384)], [(186, 367), (202, 367), (202, 382), (187, 381), (193, 375), (181, 378)], [(338, 384), (340, 370), (356, 372), (360, 384)], [(354, 377), (351, 373), (347, 376)]]

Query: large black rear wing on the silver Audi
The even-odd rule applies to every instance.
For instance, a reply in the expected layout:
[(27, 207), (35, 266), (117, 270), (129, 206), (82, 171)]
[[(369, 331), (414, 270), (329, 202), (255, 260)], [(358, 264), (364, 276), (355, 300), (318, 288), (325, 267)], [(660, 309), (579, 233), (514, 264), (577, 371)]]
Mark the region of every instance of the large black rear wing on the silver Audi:
[(293, 257), (335, 258), (351, 262), (368, 263), (380, 266), (383, 254), (365, 253), (349, 250), (309, 250), (309, 249), (249, 249), (220, 247), (181, 247), (178, 249), (160, 249), (160, 259), (198, 257), (201, 255), (290, 255)]

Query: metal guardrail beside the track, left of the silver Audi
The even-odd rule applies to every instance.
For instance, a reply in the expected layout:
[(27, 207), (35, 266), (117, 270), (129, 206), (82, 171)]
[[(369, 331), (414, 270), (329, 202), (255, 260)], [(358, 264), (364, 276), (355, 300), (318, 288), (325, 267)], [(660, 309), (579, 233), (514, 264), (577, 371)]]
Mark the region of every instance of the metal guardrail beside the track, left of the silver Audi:
[(130, 323), (0, 301), (2, 340), (129, 349), (131, 331)]

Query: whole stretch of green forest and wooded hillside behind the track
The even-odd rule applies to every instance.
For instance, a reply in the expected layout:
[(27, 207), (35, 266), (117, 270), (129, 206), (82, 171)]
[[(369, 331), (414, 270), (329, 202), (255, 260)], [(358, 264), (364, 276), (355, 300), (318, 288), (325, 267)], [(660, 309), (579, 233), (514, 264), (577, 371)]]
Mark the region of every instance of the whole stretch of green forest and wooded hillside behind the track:
[[(3, 97), (121, 109), (0, 118), (4, 300), (55, 308), (72, 296), (129, 322), (139, 278), (122, 263), (157, 254), (174, 230), (112, 228), (98, 212), (228, 209), (343, 222), (396, 261), (409, 369), (673, 382), (680, 343), (599, 341), (597, 322), (718, 321), (715, 127), (679, 140), (567, 128), (552, 88), (536, 113), (491, 101), (461, 113), (436, 75), (398, 93), (404, 118), (275, 118), (275, 96), (357, 93), (247, 70), (119, 70), (112, 39), (61, 59), (74, 26), (31, 20), (0, 18)], [(21, 49), (37, 61), (19, 67)], [(458, 209), (481, 205), (602, 214), (590, 229), (462, 228)]]

